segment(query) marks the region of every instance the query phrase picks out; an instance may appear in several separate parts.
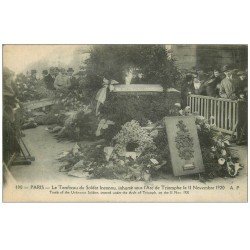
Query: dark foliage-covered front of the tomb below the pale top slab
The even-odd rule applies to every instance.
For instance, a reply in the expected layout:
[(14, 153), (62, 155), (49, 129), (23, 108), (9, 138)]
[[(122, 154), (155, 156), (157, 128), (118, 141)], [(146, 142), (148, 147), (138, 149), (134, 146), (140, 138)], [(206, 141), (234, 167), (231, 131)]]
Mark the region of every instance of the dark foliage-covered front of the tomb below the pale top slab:
[(107, 119), (114, 121), (115, 127), (120, 130), (121, 125), (131, 120), (137, 120), (142, 126), (147, 125), (148, 120), (152, 122), (161, 120), (169, 115), (169, 110), (175, 102), (179, 102), (179, 94), (110, 93), (100, 111)]

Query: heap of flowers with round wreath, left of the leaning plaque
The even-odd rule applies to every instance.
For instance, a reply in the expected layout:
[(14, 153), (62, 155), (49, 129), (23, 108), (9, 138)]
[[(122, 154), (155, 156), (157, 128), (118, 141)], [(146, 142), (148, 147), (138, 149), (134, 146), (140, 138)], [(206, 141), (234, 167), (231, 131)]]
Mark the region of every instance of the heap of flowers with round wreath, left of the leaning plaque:
[(113, 146), (106, 146), (105, 142), (83, 147), (77, 144), (77, 150), (74, 146), (60, 158), (66, 162), (61, 170), (78, 177), (87, 173), (89, 178), (148, 181), (167, 163), (163, 156), (165, 151), (159, 153), (162, 149), (155, 144), (162, 135), (155, 131), (149, 132), (132, 120), (113, 138)]

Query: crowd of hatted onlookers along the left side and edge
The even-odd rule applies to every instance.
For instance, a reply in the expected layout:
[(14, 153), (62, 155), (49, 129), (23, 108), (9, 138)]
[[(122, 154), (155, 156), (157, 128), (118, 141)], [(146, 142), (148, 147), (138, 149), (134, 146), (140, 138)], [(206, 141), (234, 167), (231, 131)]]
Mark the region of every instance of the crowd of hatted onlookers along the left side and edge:
[(20, 155), (18, 138), (23, 136), (23, 102), (54, 96), (61, 92), (59, 90), (78, 91), (78, 86), (84, 82), (84, 70), (74, 72), (73, 68), (50, 67), (40, 75), (36, 69), (15, 75), (7, 67), (3, 68), (3, 158), (6, 164), (14, 153)]

